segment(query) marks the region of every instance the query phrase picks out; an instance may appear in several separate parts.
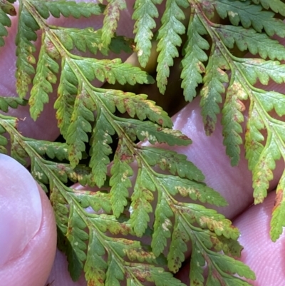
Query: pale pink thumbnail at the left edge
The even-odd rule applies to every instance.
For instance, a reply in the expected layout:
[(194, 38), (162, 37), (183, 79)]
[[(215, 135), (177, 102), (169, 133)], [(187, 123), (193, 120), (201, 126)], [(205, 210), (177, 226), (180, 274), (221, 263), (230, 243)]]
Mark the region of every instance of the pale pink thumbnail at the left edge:
[(0, 267), (24, 250), (41, 225), (38, 185), (28, 170), (0, 154)]

